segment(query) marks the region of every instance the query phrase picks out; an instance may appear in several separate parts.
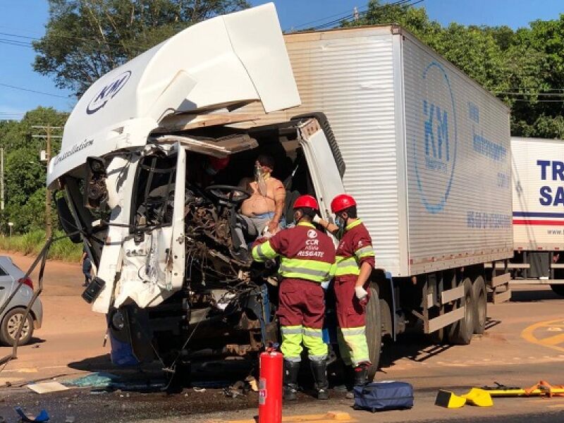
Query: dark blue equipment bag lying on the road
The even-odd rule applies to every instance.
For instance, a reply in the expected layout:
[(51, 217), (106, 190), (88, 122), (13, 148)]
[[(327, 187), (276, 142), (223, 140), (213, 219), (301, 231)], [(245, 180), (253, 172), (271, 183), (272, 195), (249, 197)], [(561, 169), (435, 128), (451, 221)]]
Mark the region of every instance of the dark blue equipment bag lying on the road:
[(372, 412), (413, 407), (413, 386), (407, 382), (370, 382), (355, 386), (355, 410)]

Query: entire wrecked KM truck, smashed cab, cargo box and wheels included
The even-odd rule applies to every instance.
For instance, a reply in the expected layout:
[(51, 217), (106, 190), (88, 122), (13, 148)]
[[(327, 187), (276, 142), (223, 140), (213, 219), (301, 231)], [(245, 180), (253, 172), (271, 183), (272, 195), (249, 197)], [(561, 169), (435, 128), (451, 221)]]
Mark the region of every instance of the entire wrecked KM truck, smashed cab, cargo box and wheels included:
[[(276, 340), (276, 264), (234, 254), (259, 153), (276, 159), (286, 219), (300, 194), (330, 221), (335, 195), (357, 200), (386, 269), (368, 287), (370, 377), (407, 328), (484, 333), (510, 278), (486, 264), (513, 255), (508, 107), (403, 28), (283, 36), (268, 4), (116, 68), (68, 119), (48, 183), (92, 257), (83, 296), (108, 317), (114, 362), (171, 368)], [(209, 157), (229, 157), (213, 178)]]

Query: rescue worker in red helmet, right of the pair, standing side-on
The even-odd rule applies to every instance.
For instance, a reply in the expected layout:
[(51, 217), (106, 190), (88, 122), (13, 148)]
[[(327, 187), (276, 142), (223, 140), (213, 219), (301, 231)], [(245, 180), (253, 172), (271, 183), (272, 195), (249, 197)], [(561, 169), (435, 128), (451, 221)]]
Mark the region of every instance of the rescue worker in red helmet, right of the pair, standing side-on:
[(351, 385), (366, 384), (367, 371), (371, 364), (365, 334), (365, 311), (369, 300), (368, 279), (376, 265), (376, 259), (372, 238), (357, 217), (355, 199), (346, 194), (337, 195), (331, 201), (331, 212), (336, 215), (336, 225), (319, 217), (314, 221), (331, 233), (342, 234), (336, 252), (337, 268), (333, 286), (340, 329), (339, 352), (348, 366), (348, 378), (352, 379), (347, 383), (348, 398), (351, 398)]

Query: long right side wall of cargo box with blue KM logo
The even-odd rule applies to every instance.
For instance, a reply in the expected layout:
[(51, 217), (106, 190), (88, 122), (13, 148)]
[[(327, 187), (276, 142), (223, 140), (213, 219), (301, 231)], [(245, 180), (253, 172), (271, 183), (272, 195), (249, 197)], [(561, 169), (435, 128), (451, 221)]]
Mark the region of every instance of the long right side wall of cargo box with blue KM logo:
[(511, 257), (509, 109), (402, 39), (410, 274)]

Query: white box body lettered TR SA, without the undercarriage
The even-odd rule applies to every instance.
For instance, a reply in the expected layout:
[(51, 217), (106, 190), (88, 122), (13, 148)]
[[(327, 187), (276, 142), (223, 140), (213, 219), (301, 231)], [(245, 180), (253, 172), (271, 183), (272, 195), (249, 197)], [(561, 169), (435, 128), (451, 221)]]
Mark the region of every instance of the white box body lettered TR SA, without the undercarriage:
[(515, 250), (564, 250), (564, 140), (511, 139)]

